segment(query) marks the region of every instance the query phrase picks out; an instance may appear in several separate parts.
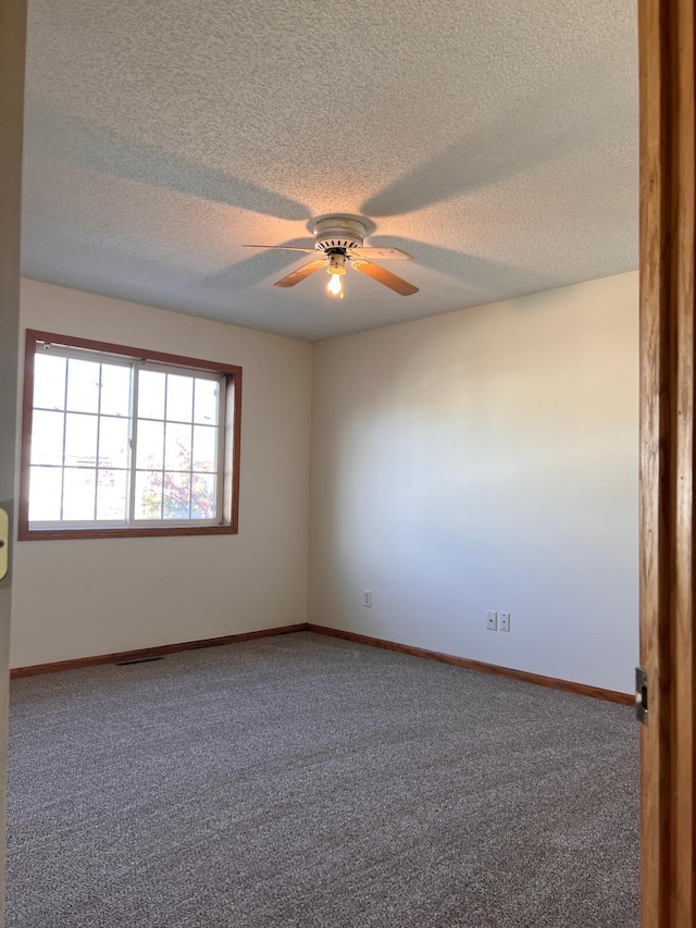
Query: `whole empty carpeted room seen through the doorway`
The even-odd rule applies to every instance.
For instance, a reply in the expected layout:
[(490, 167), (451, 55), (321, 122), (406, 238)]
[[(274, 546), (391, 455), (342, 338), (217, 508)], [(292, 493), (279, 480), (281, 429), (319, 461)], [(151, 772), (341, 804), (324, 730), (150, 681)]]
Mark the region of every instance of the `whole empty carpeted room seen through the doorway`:
[(633, 3), (29, 0), (9, 928), (638, 925)]

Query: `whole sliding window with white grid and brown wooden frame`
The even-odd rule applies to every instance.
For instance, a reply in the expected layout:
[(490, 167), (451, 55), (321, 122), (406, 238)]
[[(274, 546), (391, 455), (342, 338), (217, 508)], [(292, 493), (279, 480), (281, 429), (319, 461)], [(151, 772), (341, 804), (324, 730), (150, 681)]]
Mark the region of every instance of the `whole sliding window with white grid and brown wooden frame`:
[(241, 369), (27, 332), (20, 539), (237, 531)]

